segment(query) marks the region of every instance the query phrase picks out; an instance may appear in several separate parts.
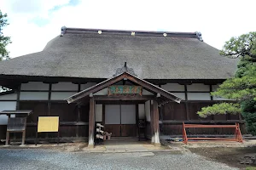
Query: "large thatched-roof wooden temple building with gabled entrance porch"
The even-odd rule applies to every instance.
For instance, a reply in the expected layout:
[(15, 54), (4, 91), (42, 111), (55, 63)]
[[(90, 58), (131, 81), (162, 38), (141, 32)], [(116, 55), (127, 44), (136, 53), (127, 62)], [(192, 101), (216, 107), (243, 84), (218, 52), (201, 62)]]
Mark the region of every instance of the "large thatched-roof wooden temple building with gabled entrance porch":
[[(236, 62), (200, 32), (62, 27), (43, 51), (0, 62), (0, 86), (13, 89), (0, 94), (0, 111), (33, 111), (26, 130), (32, 140), (39, 116), (59, 116), (63, 138), (93, 146), (102, 123), (115, 137), (136, 138), (143, 127), (144, 137), (160, 144), (160, 135), (181, 135), (183, 122), (244, 123), (241, 116), (196, 114), (226, 101), (211, 93), (234, 75)], [(0, 139), (7, 122), (0, 117)]]

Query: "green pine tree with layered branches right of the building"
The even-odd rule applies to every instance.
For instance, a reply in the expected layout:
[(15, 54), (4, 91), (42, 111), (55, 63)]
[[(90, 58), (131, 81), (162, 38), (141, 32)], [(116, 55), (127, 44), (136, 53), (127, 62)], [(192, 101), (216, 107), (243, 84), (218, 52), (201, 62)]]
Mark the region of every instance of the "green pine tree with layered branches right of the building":
[(223, 82), (212, 95), (235, 101), (204, 107), (197, 114), (206, 117), (241, 113), (247, 131), (256, 134), (256, 32), (232, 37), (220, 54), (240, 58), (240, 62), (235, 77)]

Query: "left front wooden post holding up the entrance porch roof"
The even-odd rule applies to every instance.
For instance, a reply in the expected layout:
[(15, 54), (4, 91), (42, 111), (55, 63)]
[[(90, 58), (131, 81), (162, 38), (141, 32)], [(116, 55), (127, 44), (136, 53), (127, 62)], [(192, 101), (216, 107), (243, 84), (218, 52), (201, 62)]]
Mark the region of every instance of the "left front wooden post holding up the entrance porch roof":
[(95, 131), (95, 100), (90, 98), (90, 112), (89, 112), (89, 142), (88, 147), (94, 147), (94, 131)]

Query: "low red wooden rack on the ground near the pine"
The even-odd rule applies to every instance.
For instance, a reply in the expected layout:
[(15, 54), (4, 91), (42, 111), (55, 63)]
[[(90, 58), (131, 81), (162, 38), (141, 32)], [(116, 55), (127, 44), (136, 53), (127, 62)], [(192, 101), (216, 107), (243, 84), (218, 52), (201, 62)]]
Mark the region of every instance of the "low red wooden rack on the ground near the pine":
[[(186, 128), (235, 128), (235, 138), (188, 138), (186, 133)], [(183, 122), (183, 143), (188, 144), (188, 141), (194, 140), (191, 142), (196, 142), (198, 140), (226, 140), (226, 141), (236, 141), (242, 143), (241, 131), (239, 127), (239, 123), (236, 122), (235, 125), (203, 125), (203, 124), (185, 124)]]

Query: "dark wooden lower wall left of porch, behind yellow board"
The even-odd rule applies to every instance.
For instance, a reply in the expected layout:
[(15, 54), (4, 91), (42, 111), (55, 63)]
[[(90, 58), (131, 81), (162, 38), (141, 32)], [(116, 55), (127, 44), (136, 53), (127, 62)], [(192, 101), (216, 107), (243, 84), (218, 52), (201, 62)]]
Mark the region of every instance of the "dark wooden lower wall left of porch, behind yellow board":
[[(38, 116), (59, 116), (60, 137), (87, 137), (89, 105), (20, 101), (20, 110), (32, 110), (33, 114), (27, 118), (26, 139), (34, 139), (37, 131)], [(39, 138), (55, 138), (55, 133), (39, 133)]]

